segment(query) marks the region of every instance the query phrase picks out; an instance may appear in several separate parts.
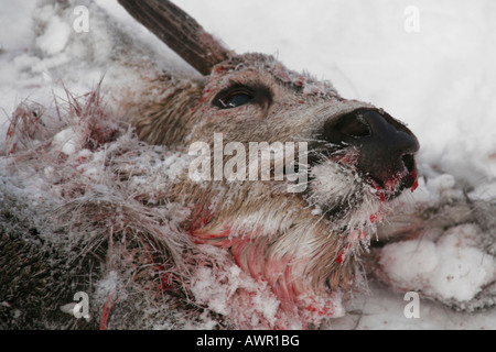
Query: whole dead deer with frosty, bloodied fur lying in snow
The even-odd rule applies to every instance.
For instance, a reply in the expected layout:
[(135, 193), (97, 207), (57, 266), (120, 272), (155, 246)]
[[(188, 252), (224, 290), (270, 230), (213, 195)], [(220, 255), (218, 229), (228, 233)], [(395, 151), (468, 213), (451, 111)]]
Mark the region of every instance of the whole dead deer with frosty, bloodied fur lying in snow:
[[(228, 51), (170, 1), (119, 2), (203, 77), (163, 73), (149, 82), (159, 98), (122, 101), (126, 119), (98, 89), (68, 95), (52, 125), (18, 108), (2, 161), (1, 264), (14, 263), (2, 320), (308, 328), (343, 316), (366, 287), (370, 240), (422, 227), (410, 215), (378, 230), (418, 187), (414, 134), (272, 56)], [(41, 179), (35, 206), (26, 177)], [(61, 312), (79, 314), (64, 305), (76, 292), (97, 319)]]

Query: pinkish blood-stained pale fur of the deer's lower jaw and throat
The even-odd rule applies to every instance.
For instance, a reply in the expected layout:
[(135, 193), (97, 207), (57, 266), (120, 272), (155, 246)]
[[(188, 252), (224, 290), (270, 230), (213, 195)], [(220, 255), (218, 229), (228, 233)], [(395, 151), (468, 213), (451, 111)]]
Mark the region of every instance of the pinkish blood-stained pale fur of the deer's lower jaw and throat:
[[(259, 209), (233, 222), (195, 229), (191, 235), (197, 244), (224, 249), (244, 273), (268, 285), (282, 316), (316, 323), (344, 315), (342, 293), (359, 282), (355, 258), (368, 245), (369, 232), (337, 230), (328, 219), (308, 211), (273, 216)], [(254, 299), (242, 290), (238, 294), (248, 302)]]

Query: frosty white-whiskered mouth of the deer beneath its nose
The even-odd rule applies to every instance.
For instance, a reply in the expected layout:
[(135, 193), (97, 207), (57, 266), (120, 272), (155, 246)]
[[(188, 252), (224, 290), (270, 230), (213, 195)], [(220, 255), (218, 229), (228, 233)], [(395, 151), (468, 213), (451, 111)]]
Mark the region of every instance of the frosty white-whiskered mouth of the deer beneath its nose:
[(405, 155), (397, 168), (386, 168), (380, 178), (360, 167), (359, 156), (353, 147), (334, 151), (331, 155), (322, 151), (312, 151), (309, 155), (310, 187), (304, 197), (335, 224), (374, 223), (388, 212), (388, 202), (418, 187), (414, 155)]

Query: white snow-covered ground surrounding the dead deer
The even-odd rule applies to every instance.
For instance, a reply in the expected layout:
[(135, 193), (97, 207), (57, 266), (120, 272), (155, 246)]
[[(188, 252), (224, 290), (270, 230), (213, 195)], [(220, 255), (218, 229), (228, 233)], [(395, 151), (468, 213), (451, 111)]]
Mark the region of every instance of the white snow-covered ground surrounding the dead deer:
[[(134, 84), (132, 73), (122, 75), (108, 61), (112, 48), (105, 33), (93, 28), (98, 21), (89, 23), (89, 33), (76, 34), (69, 21), (39, 11), (34, 15), (48, 25), (36, 35), (34, 0), (0, 1), (0, 146), (17, 105), (25, 99), (53, 105), (53, 92), (62, 91), (61, 79), (76, 94), (89, 90), (103, 74), (107, 88)], [(117, 1), (96, 2), (157, 57), (173, 56), (133, 23)], [(473, 197), (496, 197), (494, 1), (175, 2), (235, 51), (274, 54), (293, 69), (332, 80), (344, 97), (370, 101), (407, 122), (421, 142), (420, 167), (440, 175), (439, 187), (443, 180), (445, 186), (456, 179), (473, 189)], [(411, 19), (411, 12), (405, 12), (409, 6), (419, 10), (419, 32), (405, 30), (405, 22)], [(88, 38), (78, 41), (76, 35)], [(429, 191), (429, 187), (420, 187), (419, 197), (428, 197)], [(397, 254), (400, 250), (406, 248), (399, 248)], [(422, 253), (424, 258), (433, 253), (436, 260), (451, 260), (433, 248)], [(471, 261), (481, 254), (467, 253)], [(472, 261), (468, 266), (477, 273), (484, 268), (487, 277), (494, 275), (494, 262), (481, 262), (478, 267)], [(400, 265), (396, 268), (405, 272)], [(422, 275), (421, 268), (416, 271)], [(445, 294), (462, 295), (460, 289), (464, 289), (470, 295), (472, 285), (483, 285), (487, 277), (476, 283), (457, 280), (459, 286)], [(421, 297), (420, 318), (407, 319), (407, 304), (402, 295), (373, 286), (371, 295), (357, 297), (348, 308), (360, 314), (336, 319), (330, 328), (496, 328), (494, 309), (460, 314)]]

